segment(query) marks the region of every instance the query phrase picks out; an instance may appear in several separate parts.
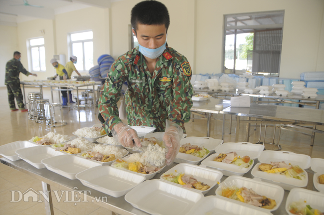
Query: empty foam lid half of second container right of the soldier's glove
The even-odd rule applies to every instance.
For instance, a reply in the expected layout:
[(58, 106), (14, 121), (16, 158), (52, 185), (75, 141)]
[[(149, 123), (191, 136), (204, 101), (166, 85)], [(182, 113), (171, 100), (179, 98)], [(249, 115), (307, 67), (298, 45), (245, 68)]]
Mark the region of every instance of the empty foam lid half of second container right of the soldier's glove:
[(218, 145), (215, 149), (217, 153), (229, 153), (235, 151), (238, 156), (249, 156), (250, 159), (258, 158), (263, 152), (264, 145), (253, 144), (250, 142), (227, 142)]

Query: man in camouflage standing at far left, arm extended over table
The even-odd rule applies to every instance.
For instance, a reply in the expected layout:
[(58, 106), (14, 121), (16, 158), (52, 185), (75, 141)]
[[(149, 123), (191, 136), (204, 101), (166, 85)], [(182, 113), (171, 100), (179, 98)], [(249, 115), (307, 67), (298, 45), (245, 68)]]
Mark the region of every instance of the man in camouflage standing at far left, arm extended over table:
[(23, 104), (23, 97), (20, 88), (19, 73), (26, 76), (32, 75), (37, 77), (37, 74), (28, 72), (20, 62), (21, 54), (18, 51), (13, 53), (13, 58), (9, 60), (5, 65), (5, 78), (4, 84), (7, 86), (8, 91), (8, 102), (11, 111), (17, 111), (14, 104), (14, 98), (16, 98), (18, 108), (21, 112), (27, 111), (25, 105)]

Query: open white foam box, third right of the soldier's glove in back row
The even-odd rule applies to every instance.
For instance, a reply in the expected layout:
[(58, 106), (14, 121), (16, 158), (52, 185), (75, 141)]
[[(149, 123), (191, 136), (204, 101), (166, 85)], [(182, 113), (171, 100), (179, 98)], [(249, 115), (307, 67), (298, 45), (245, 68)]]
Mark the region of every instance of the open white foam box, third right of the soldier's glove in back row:
[(299, 180), (295, 178), (287, 178), (284, 174), (273, 174), (273, 173), (266, 173), (259, 170), (259, 166), (261, 163), (268, 163), (270, 164), (271, 161), (285, 161), (285, 163), (298, 165), (302, 169), (308, 169), (311, 166), (311, 157), (308, 155), (303, 154), (296, 154), (289, 151), (263, 151), (259, 156), (258, 160), (260, 163), (256, 164), (252, 169), (251, 174), (256, 177), (260, 178), (264, 182), (269, 182), (272, 184), (276, 184), (284, 188), (285, 190), (291, 190), (296, 187), (306, 187), (308, 184), (308, 174), (305, 171), (306, 179)]

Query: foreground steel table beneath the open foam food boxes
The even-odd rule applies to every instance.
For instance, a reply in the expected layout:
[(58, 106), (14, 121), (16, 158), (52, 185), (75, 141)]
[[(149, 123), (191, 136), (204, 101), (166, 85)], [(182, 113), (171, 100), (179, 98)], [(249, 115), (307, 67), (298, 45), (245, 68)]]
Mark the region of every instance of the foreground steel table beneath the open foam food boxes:
[[(46, 168), (37, 169), (23, 160), (10, 161), (6, 158), (0, 158), (0, 162), (4, 165), (7, 165), (13, 169), (16, 169), (22, 173), (25, 173), (27, 175), (30, 175), (40, 180), (42, 183), (42, 192), (44, 192), (45, 194), (47, 194), (47, 191), (53, 192), (53, 190), (51, 190), (51, 186), (54, 186), (59, 188), (61, 191), (78, 193), (79, 195), (75, 194), (76, 199), (77, 198), (80, 199), (80, 197), (82, 197), (83, 200), (80, 199), (81, 201), (92, 202), (100, 207), (106, 208), (119, 215), (149, 215), (146, 212), (134, 208), (131, 204), (126, 202), (125, 196), (119, 198), (111, 197), (107, 194), (101, 193), (99, 191), (84, 186), (78, 179), (75, 180), (67, 179), (59, 174), (49, 171)], [(256, 163), (258, 163), (257, 160), (255, 164)], [(166, 166), (163, 169), (163, 171), (161, 173), (158, 173), (153, 179), (160, 179), (163, 173), (165, 173), (167, 170), (171, 169), (175, 165), (177, 165), (177, 163), (173, 163), (170, 166)], [(198, 163), (198, 165), (200, 165), (200, 163)], [(253, 178), (253, 176), (251, 175), (251, 170), (248, 173), (244, 174), (243, 176), (247, 178)], [(314, 172), (312, 170), (306, 170), (306, 171), (308, 172), (309, 175), (309, 182), (306, 189), (316, 190), (313, 185)], [(221, 182), (224, 181), (226, 178), (227, 176), (223, 176), (221, 178)], [(217, 187), (218, 185), (213, 187), (205, 196), (215, 196)], [(54, 191), (54, 192), (58, 192), (58, 191)], [(289, 191), (285, 190), (283, 202), (281, 203), (280, 207), (276, 211), (272, 212), (273, 215), (287, 214), (285, 210), (285, 205), (286, 205), (288, 194)], [(52, 198), (55, 198), (55, 196), (51, 197), (51, 195), (49, 195), (49, 201), (48, 202), (44, 201), (46, 215), (54, 214)]]

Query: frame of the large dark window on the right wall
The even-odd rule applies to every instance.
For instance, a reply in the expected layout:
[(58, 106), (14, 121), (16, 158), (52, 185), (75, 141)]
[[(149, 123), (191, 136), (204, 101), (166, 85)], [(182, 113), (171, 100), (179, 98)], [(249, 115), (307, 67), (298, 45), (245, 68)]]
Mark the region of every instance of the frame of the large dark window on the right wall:
[[(261, 24), (261, 25), (235, 25), (235, 26), (227, 26), (227, 17), (230, 16), (253, 16), (253, 15), (271, 15), (275, 13), (283, 13), (283, 23), (282, 24)], [(235, 50), (236, 50), (236, 31), (240, 29), (252, 29), (253, 31), (250, 31), (250, 33), (255, 33), (255, 30), (258, 29), (277, 29), (281, 28), (282, 31), (284, 30), (284, 19), (285, 19), (285, 10), (274, 10), (274, 11), (260, 11), (260, 12), (245, 12), (245, 13), (232, 13), (232, 14), (224, 14), (223, 15), (223, 35), (222, 35), (222, 63), (221, 63), (221, 71), (222, 73), (225, 73), (225, 45), (226, 45), (226, 32), (227, 30), (234, 30), (235, 33), (235, 41), (234, 41), (234, 58), (236, 56)], [(283, 34), (282, 34), (283, 36)], [(254, 46), (255, 44), (253, 44)], [(282, 45), (282, 44), (281, 44)], [(280, 64), (279, 64), (280, 65)], [(234, 69), (233, 71), (235, 72), (235, 59), (234, 59)], [(235, 74), (235, 73), (234, 73)], [(278, 71), (278, 75), (262, 75), (262, 74), (254, 74), (255, 76), (264, 76), (264, 77), (279, 77), (280, 75), (280, 70)]]

